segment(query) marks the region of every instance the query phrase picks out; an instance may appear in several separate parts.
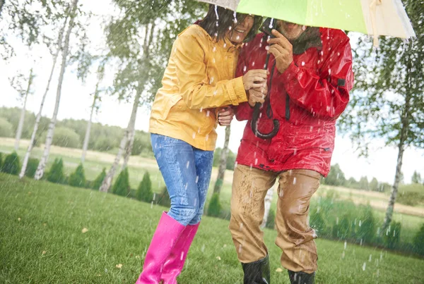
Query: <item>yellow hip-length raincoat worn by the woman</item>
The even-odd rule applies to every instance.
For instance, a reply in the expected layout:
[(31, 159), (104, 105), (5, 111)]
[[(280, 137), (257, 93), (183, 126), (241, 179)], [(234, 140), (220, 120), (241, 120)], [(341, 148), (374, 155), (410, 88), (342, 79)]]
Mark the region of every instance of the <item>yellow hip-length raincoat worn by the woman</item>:
[(216, 108), (247, 101), (242, 77), (233, 79), (239, 51), (228, 40), (216, 42), (199, 25), (179, 34), (153, 102), (149, 132), (214, 150)]

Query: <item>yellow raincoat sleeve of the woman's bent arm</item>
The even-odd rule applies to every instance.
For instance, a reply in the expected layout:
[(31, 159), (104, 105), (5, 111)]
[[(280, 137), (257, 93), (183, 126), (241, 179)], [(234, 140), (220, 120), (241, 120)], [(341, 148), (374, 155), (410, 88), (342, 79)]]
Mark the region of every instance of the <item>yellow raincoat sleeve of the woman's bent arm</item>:
[(209, 109), (230, 104), (237, 106), (247, 101), (242, 78), (216, 83), (213, 82), (214, 78), (208, 78), (205, 64), (207, 52), (207, 45), (194, 35), (178, 37), (172, 51), (179, 92), (189, 109)]

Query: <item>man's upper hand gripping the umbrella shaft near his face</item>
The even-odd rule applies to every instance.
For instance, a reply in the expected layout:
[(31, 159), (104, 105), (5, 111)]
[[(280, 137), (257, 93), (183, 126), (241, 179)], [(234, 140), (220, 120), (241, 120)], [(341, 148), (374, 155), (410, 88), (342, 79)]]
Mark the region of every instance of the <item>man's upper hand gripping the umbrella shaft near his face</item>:
[(278, 72), (284, 73), (293, 61), (293, 46), (277, 30), (272, 30), (272, 34), (275, 37), (268, 40), (268, 43), (271, 44), (268, 53), (273, 54), (276, 58)]

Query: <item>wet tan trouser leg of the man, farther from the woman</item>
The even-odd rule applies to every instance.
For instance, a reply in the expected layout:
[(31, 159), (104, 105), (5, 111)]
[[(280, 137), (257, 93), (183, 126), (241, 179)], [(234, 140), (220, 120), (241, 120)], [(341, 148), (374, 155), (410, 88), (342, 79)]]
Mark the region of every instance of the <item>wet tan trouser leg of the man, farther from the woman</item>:
[(290, 170), (280, 173), (276, 245), (283, 250), (281, 265), (289, 271), (317, 271), (317, 237), (307, 217), (310, 199), (319, 187), (321, 175), (310, 170)]

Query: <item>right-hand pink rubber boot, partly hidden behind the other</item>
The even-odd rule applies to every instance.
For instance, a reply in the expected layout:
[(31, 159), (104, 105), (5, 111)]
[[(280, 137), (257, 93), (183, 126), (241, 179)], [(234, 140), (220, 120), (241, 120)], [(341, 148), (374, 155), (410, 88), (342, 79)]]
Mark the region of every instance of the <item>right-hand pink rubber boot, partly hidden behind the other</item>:
[(192, 245), (194, 236), (196, 235), (199, 223), (196, 225), (189, 225), (179, 236), (177, 243), (172, 249), (170, 256), (165, 261), (160, 280), (163, 284), (177, 284), (177, 276), (181, 273), (184, 267), (184, 262)]

